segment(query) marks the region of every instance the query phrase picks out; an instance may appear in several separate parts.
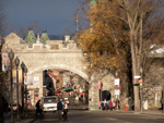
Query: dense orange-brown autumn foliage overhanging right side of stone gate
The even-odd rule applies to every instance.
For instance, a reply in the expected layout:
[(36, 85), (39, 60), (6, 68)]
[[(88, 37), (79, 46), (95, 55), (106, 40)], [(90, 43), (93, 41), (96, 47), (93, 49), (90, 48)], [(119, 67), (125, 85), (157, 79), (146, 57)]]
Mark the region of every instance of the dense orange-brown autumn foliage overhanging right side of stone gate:
[(119, 11), (106, 2), (90, 8), (91, 27), (82, 30), (79, 39), (89, 73), (103, 69), (125, 72), (128, 66), (128, 27), (122, 21), (109, 16), (119, 14)]

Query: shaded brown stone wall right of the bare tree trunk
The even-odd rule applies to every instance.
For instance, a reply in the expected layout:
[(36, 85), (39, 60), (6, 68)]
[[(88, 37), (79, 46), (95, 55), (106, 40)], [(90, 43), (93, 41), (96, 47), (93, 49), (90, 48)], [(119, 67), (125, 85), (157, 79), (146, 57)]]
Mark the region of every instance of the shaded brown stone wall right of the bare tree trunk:
[(164, 59), (149, 59), (143, 75), (143, 102), (148, 108), (160, 108), (164, 86)]

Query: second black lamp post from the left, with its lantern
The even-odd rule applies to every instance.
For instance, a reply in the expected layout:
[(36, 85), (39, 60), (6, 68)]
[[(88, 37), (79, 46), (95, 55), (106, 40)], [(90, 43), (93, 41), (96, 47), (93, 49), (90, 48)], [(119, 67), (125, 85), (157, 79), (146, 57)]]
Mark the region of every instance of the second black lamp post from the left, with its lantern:
[(16, 65), (16, 101), (17, 101), (17, 121), (20, 121), (20, 107), (19, 107), (19, 64), (20, 64), (20, 59), (16, 57), (15, 59), (15, 65)]

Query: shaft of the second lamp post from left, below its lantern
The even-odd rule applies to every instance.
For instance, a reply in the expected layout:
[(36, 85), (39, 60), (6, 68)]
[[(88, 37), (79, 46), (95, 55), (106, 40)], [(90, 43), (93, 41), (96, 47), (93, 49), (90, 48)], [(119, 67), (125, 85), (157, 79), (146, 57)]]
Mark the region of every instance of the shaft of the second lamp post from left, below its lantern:
[(16, 121), (20, 121), (20, 107), (19, 107), (19, 69), (16, 65), (16, 101), (17, 101), (17, 119)]

